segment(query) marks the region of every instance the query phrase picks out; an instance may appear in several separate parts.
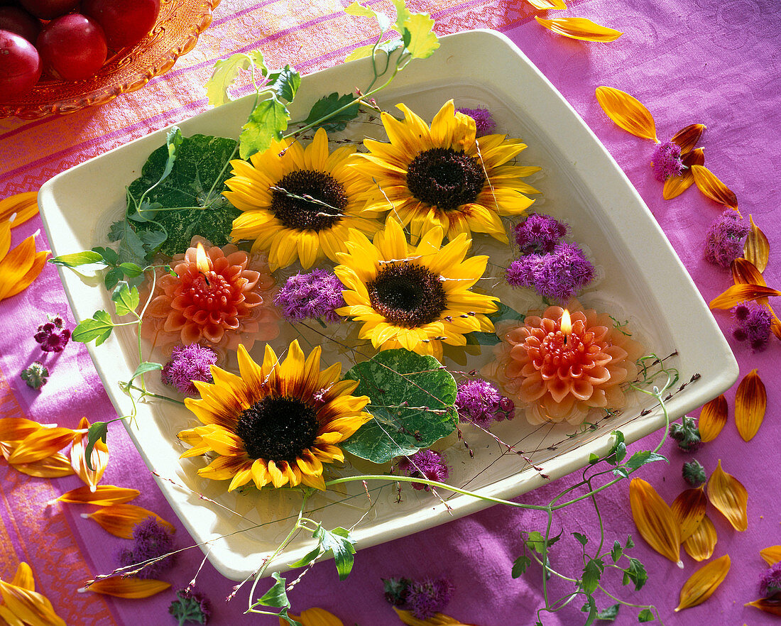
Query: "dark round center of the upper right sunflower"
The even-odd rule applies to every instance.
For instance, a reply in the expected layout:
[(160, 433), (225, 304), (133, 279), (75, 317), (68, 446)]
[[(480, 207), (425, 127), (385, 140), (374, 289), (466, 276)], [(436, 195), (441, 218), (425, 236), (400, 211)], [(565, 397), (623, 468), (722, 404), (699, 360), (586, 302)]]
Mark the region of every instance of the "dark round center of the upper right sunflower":
[(453, 148), (431, 148), (407, 169), (407, 187), (419, 201), (453, 211), (477, 199), (486, 175), (480, 161)]

